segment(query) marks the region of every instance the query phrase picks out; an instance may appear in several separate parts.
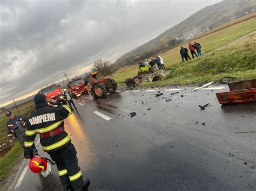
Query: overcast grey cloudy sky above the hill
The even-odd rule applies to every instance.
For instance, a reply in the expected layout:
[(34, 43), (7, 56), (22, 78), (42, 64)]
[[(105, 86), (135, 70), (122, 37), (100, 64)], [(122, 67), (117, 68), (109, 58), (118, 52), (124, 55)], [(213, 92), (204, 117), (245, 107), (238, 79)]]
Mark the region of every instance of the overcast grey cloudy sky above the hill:
[(51, 82), (115, 61), (220, 0), (1, 0), (0, 106)]

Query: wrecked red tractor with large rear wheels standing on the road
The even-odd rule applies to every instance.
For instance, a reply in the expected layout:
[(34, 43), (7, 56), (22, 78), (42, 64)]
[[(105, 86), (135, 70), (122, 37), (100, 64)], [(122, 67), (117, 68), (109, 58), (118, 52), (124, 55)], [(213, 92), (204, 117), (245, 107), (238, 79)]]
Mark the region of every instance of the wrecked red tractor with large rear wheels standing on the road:
[(117, 82), (99, 72), (90, 73), (84, 85), (89, 86), (90, 93), (95, 98), (104, 98), (107, 93), (113, 94), (117, 90)]

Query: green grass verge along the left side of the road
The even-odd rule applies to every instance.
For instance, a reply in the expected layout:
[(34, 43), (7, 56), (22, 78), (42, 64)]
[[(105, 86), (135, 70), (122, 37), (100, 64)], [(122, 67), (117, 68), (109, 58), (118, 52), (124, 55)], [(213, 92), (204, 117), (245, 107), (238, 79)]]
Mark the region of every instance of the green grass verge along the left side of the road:
[[(15, 115), (28, 116), (30, 112), (35, 108), (35, 104), (33, 102), (30, 102), (18, 108), (19, 112), (17, 111), (17, 109), (12, 109), (11, 111), (14, 112)], [(4, 143), (8, 140), (6, 135), (7, 120), (8, 118), (5, 116), (5, 112), (3, 114), (0, 114), (0, 143)], [(15, 166), (15, 163), (17, 162), (17, 159), (22, 154), (22, 152), (23, 148), (21, 144), (16, 142), (15, 145), (12, 146), (11, 150), (7, 154), (5, 154), (4, 157), (0, 158), (0, 178), (8, 177), (10, 170), (13, 166)]]

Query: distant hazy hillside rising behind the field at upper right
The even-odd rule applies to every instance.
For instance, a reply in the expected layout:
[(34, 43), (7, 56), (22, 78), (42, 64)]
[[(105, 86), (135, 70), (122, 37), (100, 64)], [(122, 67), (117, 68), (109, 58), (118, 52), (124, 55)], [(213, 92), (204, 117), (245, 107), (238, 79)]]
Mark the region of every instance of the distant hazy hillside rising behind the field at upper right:
[(176, 46), (185, 39), (195, 37), (223, 23), (244, 16), (255, 9), (255, 0), (224, 0), (207, 6), (161, 33), (158, 37), (124, 54), (114, 62), (114, 66), (120, 68), (138, 60), (147, 59), (151, 55)]

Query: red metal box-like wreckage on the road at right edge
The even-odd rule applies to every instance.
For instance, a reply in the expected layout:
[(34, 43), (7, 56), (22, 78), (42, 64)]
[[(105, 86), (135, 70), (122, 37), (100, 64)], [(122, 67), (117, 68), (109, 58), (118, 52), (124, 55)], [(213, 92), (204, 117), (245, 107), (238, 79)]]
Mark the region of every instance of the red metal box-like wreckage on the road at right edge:
[(220, 104), (256, 102), (256, 79), (228, 83), (230, 91), (216, 93)]

